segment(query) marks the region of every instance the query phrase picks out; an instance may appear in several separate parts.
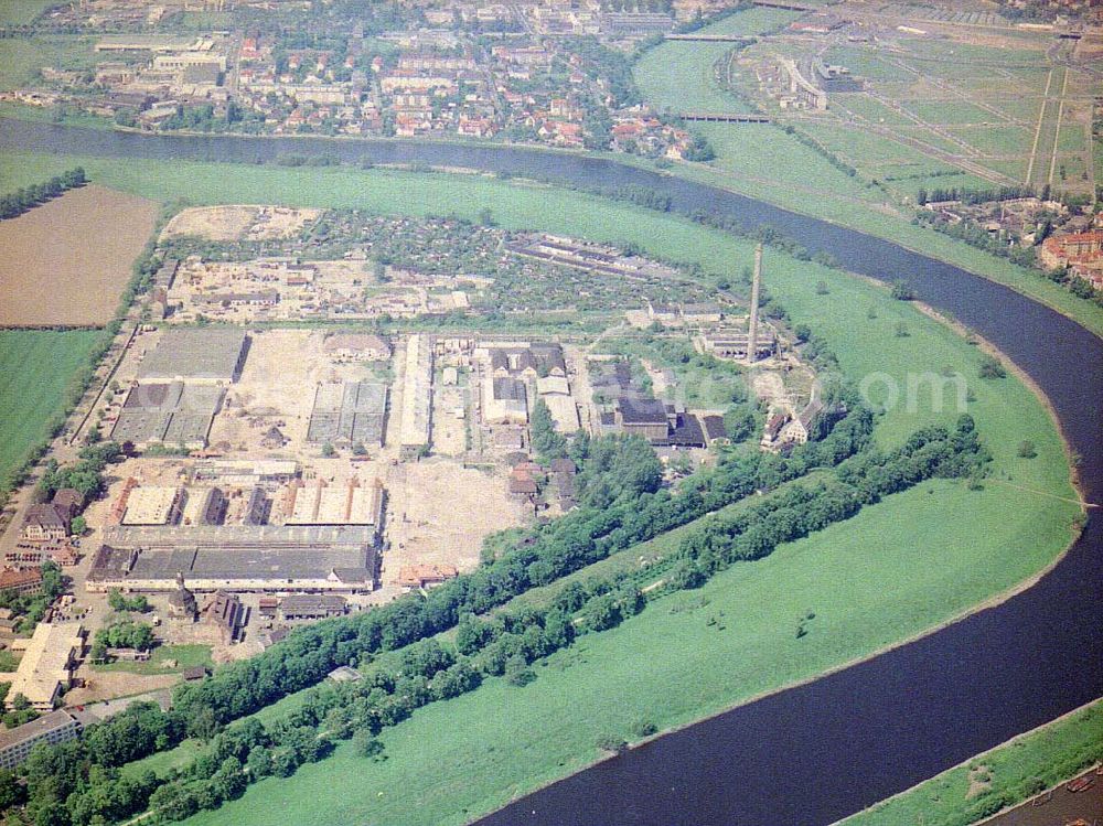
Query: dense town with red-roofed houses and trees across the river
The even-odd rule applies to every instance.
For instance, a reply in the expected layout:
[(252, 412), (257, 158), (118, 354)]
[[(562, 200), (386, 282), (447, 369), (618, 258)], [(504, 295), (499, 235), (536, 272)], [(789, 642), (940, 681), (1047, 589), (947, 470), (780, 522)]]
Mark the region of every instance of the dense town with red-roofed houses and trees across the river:
[[(88, 6), (95, 14), (77, 3), (55, 12), (54, 24), (128, 33), (99, 36), (88, 71), (44, 67), (42, 88), (11, 99), (140, 130), (502, 138), (673, 159), (699, 152), (684, 127), (631, 92), (625, 51), (708, 11), (708, 0), (662, 12), (613, 11), (597, 0), (396, 4), (393, 18), (406, 26), (356, 23), (307, 37), (268, 25), (151, 34), (167, 7), (136, 19), (122, 0)], [(317, 45), (300, 45), (304, 39)]]

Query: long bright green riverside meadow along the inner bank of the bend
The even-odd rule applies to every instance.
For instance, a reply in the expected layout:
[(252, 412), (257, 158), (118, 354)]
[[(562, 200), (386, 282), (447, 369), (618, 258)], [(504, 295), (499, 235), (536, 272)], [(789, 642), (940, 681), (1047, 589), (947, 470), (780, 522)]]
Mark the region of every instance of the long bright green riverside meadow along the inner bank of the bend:
[[(751, 257), (750, 244), (674, 216), (481, 176), (88, 165), (113, 185), (195, 203), (275, 201), (470, 217), (486, 206), (506, 227), (634, 240), (717, 275)], [(765, 267), (770, 290), (794, 321), (807, 320), (825, 336), (849, 375), (879, 372), (901, 386), (908, 373), (953, 367), (965, 375), (975, 394), (970, 412), (995, 455), (995, 478), (984, 491), (934, 482), (890, 497), (763, 562), (731, 569), (699, 593), (660, 601), (622, 627), (588, 637), (542, 668), (528, 688), (492, 680), (473, 695), (418, 712), (385, 733), (384, 763), (357, 763), (342, 749), (194, 823), (462, 822), (589, 762), (598, 754), (597, 733), (625, 737), (641, 718), (661, 728), (678, 725), (812, 677), (965, 611), (1050, 561), (1070, 536), (1075, 506), (1004, 484), (1071, 493), (1060, 442), (1037, 399), (1013, 378), (977, 379), (974, 347), (884, 289), (769, 251)], [(815, 290), (821, 279), (828, 282), (826, 296)], [(909, 329), (906, 339), (896, 335), (900, 322)], [(927, 393), (911, 407), (893, 407), (879, 418), (878, 438), (892, 443), (923, 423), (956, 416), (933, 407)], [(1037, 444), (1038, 458), (1015, 455), (1026, 438)], [(698, 610), (672, 611), (702, 598), (708, 603)], [(795, 620), (808, 610), (820, 619), (797, 641)], [(706, 625), (719, 611), (728, 618), (724, 633)], [(695, 677), (687, 686), (689, 673)]]

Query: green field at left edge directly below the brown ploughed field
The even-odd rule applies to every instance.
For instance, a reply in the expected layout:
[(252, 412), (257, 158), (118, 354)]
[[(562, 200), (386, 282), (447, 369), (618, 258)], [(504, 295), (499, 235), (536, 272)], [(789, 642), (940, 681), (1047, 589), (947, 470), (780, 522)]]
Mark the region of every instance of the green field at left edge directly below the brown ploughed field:
[(49, 436), (77, 369), (101, 335), (96, 330), (0, 330), (0, 480)]

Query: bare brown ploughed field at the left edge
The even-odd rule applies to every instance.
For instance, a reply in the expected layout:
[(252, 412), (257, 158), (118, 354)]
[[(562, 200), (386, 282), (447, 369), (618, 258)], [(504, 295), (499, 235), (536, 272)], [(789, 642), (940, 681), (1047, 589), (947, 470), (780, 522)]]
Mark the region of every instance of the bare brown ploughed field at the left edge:
[(0, 326), (109, 322), (157, 211), (90, 185), (0, 222)]

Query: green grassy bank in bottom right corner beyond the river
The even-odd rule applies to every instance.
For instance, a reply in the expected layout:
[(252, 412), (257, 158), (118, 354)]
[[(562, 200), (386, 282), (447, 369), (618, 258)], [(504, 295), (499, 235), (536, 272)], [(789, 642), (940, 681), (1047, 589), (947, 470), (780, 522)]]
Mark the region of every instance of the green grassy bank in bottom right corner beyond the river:
[[(925, 783), (843, 820), (846, 826), (968, 826), (984, 797), (966, 797), (970, 774), (982, 766), (989, 794), (1022, 801), (1064, 781), (1091, 762), (1103, 743), (1103, 700), (977, 754)], [(988, 795), (986, 795), (988, 796)]]

